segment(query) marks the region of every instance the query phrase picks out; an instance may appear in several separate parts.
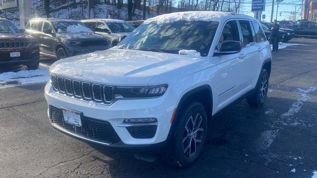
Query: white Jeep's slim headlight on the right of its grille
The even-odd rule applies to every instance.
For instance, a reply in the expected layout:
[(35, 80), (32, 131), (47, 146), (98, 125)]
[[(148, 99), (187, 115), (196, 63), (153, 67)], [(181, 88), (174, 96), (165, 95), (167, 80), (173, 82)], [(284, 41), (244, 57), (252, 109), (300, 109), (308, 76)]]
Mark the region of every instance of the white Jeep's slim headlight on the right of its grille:
[(167, 85), (149, 87), (116, 87), (115, 98), (148, 98), (158, 97), (165, 93)]

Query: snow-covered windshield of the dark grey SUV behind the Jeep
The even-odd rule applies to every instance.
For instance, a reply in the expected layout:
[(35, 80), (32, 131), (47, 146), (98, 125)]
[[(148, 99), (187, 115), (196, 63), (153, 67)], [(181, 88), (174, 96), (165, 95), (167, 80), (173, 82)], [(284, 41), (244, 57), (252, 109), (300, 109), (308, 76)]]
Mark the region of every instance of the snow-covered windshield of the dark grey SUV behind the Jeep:
[(53, 28), (57, 33), (93, 32), (84, 23), (76, 21), (53, 22)]

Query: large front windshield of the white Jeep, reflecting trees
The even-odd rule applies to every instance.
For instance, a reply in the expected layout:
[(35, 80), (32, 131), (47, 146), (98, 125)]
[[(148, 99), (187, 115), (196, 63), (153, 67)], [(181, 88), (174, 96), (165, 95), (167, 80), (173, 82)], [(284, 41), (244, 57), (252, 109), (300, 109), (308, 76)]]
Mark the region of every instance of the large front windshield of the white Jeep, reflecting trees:
[(178, 54), (196, 50), (207, 56), (219, 22), (178, 21), (169, 24), (142, 24), (118, 45), (121, 48)]

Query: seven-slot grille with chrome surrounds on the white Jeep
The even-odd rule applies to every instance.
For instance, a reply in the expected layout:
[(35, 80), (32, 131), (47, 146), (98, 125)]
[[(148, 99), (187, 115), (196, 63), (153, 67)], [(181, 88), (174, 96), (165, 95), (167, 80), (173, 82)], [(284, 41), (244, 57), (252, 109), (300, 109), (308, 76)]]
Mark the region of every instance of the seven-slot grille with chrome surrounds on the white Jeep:
[(51, 75), (55, 92), (88, 101), (110, 104), (113, 101), (113, 86), (92, 84)]

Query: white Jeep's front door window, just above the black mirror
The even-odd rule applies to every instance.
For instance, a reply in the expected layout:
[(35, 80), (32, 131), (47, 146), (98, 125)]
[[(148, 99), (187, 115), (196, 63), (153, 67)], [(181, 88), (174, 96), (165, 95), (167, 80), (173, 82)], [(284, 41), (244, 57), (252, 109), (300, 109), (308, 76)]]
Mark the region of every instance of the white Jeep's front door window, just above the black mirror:
[(218, 42), (218, 47), (220, 47), (222, 42), (228, 40), (240, 42), (238, 26), (235, 20), (231, 20), (223, 26), (223, 30)]

